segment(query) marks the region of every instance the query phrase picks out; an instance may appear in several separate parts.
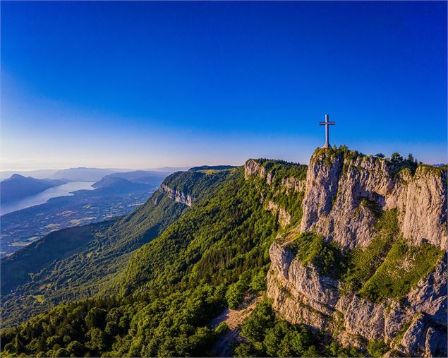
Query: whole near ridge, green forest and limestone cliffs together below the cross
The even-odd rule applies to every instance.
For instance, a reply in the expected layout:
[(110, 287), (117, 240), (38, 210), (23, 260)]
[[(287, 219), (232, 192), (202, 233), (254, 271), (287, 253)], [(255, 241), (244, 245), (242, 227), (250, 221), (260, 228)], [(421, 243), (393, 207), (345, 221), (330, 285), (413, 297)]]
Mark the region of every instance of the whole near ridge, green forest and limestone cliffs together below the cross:
[[(171, 193), (161, 188), (150, 201), (181, 205), (178, 219), (136, 248), (95, 297), (56, 306), (23, 323), (22, 346), (14, 340), (17, 330), (2, 330), (4, 350), (12, 355), (217, 355), (211, 350), (224, 328), (212, 329), (210, 322), (252, 294), (266, 298), (237, 328), (236, 336), (246, 342), (235, 347), (236, 354), (444, 354), (444, 233), (440, 237), (439, 226), (412, 229), (406, 210), (396, 210), (404, 200), (388, 202), (380, 191), (386, 188), (396, 198), (407, 188), (406, 196), (413, 198), (420, 191), (408, 188), (417, 188), (416, 182), (428, 184), (433, 201), (411, 199), (414, 211), (430, 205), (442, 227), (446, 217), (440, 203), (446, 201), (447, 184), (441, 169), (344, 147), (316, 150), (309, 166), (248, 160), (229, 171), (173, 174), (164, 181)], [(395, 190), (387, 183), (399, 186)], [(176, 203), (181, 194), (198, 199), (191, 206)], [(333, 216), (332, 210), (341, 215)], [(344, 220), (351, 231), (339, 229)], [(417, 233), (411, 235), (413, 244), (401, 238), (406, 232)], [(416, 255), (422, 259), (413, 260)], [(400, 265), (407, 265), (404, 280), (395, 274)], [(386, 311), (395, 320), (387, 334), (381, 328)], [(51, 323), (56, 317), (59, 323)], [(49, 330), (39, 328), (48, 325)], [(60, 330), (71, 332), (67, 342), (56, 334)], [(68, 344), (73, 341), (76, 347)]]

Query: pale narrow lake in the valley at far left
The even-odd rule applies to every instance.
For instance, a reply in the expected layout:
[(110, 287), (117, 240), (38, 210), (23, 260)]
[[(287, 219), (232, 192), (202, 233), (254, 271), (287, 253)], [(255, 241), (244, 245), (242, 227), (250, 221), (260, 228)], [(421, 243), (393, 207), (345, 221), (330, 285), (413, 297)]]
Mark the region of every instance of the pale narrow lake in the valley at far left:
[(51, 198), (56, 198), (58, 196), (71, 196), (73, 191), (77, 190), (93, 190), (91, 183), (85, 181), (71, 181), (70, 183), (53, 186), (52, 188), (42, 191), (32, 196), (27, 196), (26, 198), (20, 199), (18, 201), (13, 201), (11, 203), (2, 203), (0, 207), (0, 214), (8, 214), (13, 211), (30, 208), (30, 206), (40, 205), (47, 203)]

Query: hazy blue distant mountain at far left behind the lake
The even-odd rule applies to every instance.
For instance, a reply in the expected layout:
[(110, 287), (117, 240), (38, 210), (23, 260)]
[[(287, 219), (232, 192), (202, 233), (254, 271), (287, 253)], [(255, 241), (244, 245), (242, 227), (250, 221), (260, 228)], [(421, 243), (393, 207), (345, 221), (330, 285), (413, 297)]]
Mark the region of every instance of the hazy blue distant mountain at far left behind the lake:
[(52, 186), (66, 184), (68, 179), (35, 179), (13, 174), (11, 178), (0, 182), (0, 201), (16, 201), (45, 191)]

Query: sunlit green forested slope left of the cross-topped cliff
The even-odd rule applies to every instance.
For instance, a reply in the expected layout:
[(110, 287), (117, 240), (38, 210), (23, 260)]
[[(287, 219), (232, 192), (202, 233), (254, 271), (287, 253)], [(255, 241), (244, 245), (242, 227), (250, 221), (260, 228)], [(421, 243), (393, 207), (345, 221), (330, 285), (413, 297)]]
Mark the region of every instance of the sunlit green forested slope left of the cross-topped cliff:
[[(225, 179), (208, 186), (193, 208), (135, 251), (109, 282), (108, 294), (57, 306), (18, 329), (2, 331), (5, 354), (211, 353), (217, 333), (210, 320), (225, 306), (237, 306), (248, 292), (265, 290), (269, 248), (279, 223), (260, 193), (282, 201), (282, 179), (305, 178), (306, 166), (261, 162), (279, 171), (274, 186), (246, 181), (242, 167), (210, 175), (188, 173)], [(188, 188), (176, 180), (164, 184)]]

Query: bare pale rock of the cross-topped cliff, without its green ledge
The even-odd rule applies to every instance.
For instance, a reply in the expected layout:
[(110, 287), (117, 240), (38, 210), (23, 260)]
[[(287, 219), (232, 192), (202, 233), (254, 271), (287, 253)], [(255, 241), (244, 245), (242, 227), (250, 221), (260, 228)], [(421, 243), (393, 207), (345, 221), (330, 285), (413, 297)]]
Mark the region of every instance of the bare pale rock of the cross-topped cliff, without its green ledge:
[[(246, 163), (245, 174), (246, 179), (255, 176), (268, 185), (272, 182), (270, 172), (255, 161)], [(430, 243), (447, 249), (447, 177), (440, 169), (419, 165), (415, 173), (409, 169), (397, 172), (387, 160), (317, 150), (306, 181), (286, 179), (282, 183), (285, 193), (291, 192), (286, 187), (305, 191), (301, 222), (289, 233), (316, 232), (346, 252), (365, 248), (375, 237), (379, 215), (394, 209), (399, 235), (408, 244)], [(275, 203), (267, 202), (266, 208), (279, 213)], [(286, 215), (281, 217), (288, 222)], [(312, 263), (303, 265), (291, 250), (290, 240), (291, 234), (285, 232), (284, 239), (270, 248), (267, 296), (280, 316), (324, 330), (343, 345), (365, 349), (369, 341), (381, 340), (391, 352), (446, 356), (446, 253), (404, 297), (372, 302), (357, 292), (344, 292), (342, 282), (320, 275)], [(401, 270), (409, 270), (406, 262), (396, 268), (396, 280)]]

